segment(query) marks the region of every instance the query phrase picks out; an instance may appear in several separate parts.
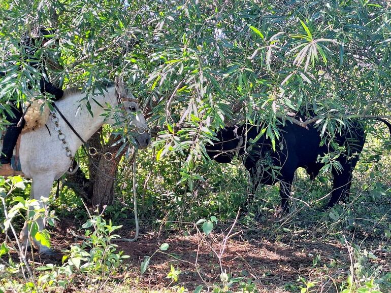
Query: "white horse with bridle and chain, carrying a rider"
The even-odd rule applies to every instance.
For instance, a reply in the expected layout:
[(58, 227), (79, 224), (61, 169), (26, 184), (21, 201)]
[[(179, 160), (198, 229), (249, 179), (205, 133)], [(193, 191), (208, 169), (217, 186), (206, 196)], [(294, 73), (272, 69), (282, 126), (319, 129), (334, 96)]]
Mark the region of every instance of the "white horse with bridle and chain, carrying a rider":
[[(90, 111), (93, 116), (88, 113), (85, 105), (86, 100), (83, 100), (86, 94), (79, 90), (65, 90), (63, 97), (56, 101), (55, 104), (63, 117), (69, 121), (84, 141), (87, 141), (103, 124), (114, 124), (113, 118), (105, 120), (105, 117), (102, 116), (105, 109), (101, 105), (108, 103), (112, 107), (118, 106), (125, 109), (127, 113), (134, 112), (132, 124), (134, 124), (136, 129), (144, 130), (135, 133), (135, 139), (140, 149), (146, 148), (151, 140), (151, 136), (147, 131), (146, 121), (139, 112), (134, 96), (125, 90), (122, 81), (116, 80), (114, 86), (107, 87), (103, 93), (95, 94), (94, 99), (100, 105), (93, 101), (90, 102)], [(80, 105), (82, 106), (81, 110)], [(69, 145), (70, 154), (74, 156), (77, 149), (82, 145), (82, 141), (59, 113), (55, 113), (55, 115), (65, 141)], [(53, 181), (61, 177), (72, 163), (60, 140), (63, 137), (59, 137), (55, 127), (55, 124), (49, 119), (47, 128), (41, 127), (35, 131), (21, 134), (19, 159), (22, 171), (26, 177), (32, 179), (30, 198), (36, 199), (41, 208), (46, 208), (46, 204), (41, 198), (49, 197)], [(40, 231), (44, 229), (43, 218), (40, 218), (37, 224)], [(28, 230), (29, 227), (25, 223), (20, 232), (20, 240), (24, 248), (29, 246)], [(40, 253), (52, 252), (49, 247), (42, 245), (36, 239), (34, 241), (39, 247)]]

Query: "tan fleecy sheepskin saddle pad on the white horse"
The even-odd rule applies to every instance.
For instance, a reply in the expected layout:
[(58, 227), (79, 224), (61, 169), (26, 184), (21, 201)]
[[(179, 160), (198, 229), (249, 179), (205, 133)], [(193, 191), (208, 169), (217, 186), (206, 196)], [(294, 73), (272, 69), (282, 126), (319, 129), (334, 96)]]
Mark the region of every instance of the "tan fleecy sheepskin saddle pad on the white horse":
[(44, 99), (34, 100), (24, 115), (25, 125), (22, 133), (36, 130), (44, 126), (49, 119), (50, 109)]

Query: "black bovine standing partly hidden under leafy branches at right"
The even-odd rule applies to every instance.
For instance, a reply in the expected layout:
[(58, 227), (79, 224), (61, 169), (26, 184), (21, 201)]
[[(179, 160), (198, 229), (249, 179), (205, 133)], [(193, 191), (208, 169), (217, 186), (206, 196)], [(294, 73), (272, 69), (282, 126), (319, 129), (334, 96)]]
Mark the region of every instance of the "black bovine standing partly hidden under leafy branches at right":
[[(299, 115), (305, 120), (307, 117)], [(383, 119), (391, 133), (391, 124)], [(314, 124), (307, 128), (286, 121), (278, 126), (280, 137), (275, 142), (265, 134), (260, 135), (262, 127), (248, 123), (240, 126), (225, 127), (217, 132), (217, 142), (207, 144), (208, 156), (219, 163), (230, 163), (234, 156), (244, 156), (244, 166), (253, 180), (254, 190), (261, 184), (274, 185), (280, 182), (281, 208), (289, 210), (288, 198), (296, 169), (303, 167), (314, 179), (325, 165), (319, 161), (319, 156), (332, 153), (338, 146), (344, 151), (336, 158), (332, 174), (333, 192), (328, 206), (333, 207), (339, 200), (346, 200), (350, 190), (352, 171), (359, 160), (365, 143), (365, 131), (361, 121), (354, 120), (350, 127), (336, 133), (334, 142), (330, 142), (330, 133), (325, 133), (326, 143), (321, 144), (320, 129)], [(259, 137), (260, 136), (260, 137)], [(257, 139), (255, 142), (254, 139)], [(335, 147), (333, 147), (333, 145)]]

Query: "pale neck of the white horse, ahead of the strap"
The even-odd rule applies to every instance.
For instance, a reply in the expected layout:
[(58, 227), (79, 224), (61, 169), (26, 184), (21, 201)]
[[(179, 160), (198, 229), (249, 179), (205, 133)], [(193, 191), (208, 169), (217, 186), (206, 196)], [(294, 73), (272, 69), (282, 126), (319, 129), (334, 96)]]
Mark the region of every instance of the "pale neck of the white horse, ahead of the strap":
[(100, 103), (97, 104), (93, 99), (89, 100), (91, 113), (87, 109), (87, 101), (83, 100), (85, 93), (74, 94), (56, 102), (57, 107), (63, 116), (69, 121), (76, 132), (87, 141), (103, 124), (104, 108), (106, 103), (115, 106), (114, 88), (109, 88), (104, 95), (93, 96), (93, 99)]

